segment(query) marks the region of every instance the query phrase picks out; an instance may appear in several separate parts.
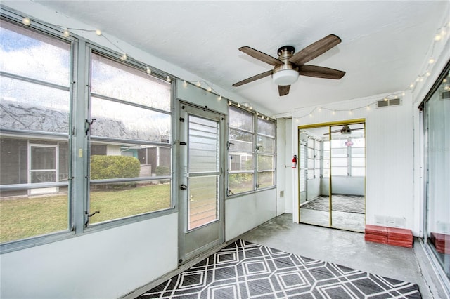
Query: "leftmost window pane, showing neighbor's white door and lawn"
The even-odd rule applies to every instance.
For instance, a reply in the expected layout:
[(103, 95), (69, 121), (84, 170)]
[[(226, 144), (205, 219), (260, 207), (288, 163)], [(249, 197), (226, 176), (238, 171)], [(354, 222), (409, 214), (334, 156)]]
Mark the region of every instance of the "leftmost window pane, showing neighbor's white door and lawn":
[(1, 243), (68, 231), (70, 48), (1, 21)]

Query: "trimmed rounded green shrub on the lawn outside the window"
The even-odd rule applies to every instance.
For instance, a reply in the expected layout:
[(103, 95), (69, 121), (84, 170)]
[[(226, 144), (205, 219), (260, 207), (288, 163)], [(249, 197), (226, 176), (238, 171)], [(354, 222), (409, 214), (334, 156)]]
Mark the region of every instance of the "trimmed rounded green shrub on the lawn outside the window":
[[(91, 156), (91, 180), (104, 180), (108, 178), (137, 178), (141, 171), (139, 160), (127, 156)], [(98, 186), (100, 187), (100, 186)], [(136, 187), (136, 182), (108, 184), (101, 189), (111, 187)]]

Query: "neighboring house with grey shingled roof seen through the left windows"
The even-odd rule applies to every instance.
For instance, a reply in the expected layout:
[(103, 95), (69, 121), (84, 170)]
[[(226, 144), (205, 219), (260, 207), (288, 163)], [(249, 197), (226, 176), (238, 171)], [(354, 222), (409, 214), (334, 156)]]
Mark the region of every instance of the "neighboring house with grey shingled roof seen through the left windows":
[[(2, 99), (1, 115), (1, 174), (2, 185), (62, 182), (68, 180), (68, 113), (47, 107), (32, 107)], [(96, 119), (93, 133), (121, 140), (151, 138), (142, 132), (124, 128), (121, 121)], [(39, 132), (39, 135), (36, 133)], [(149, 134), (149, 133), (148, 133)], [(38, 137), (39, 136), (39, 137)], [(170, 165), (170, 147), (159, 145), (124, 145), (104, 141), (94, 142), (91, 155), (122, 155), (139, 159), (141, 176), (155, 175), (155, 168)], [(163, 136), (161, 142), (169, 143)], [(39, 193), (58, 192), (60, 188), (44, 188)], [(64, 188), (65, 189), (65, 188)], [(2, 192), (2, 197), (37, 194), (37, 190)]]

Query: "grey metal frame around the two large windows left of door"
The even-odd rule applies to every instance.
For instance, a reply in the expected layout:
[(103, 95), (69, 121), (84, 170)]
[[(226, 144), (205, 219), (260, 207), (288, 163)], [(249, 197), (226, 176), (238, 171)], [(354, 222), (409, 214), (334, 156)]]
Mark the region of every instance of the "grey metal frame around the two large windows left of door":
[[(169, 146), (171, 157), (171, 173), (167, 176), (167, 179), (171, 180), (171, 197), (170, 206), (167, 209), (150, 211), (148, 213), (142, 213), (138, 215), (130, 215), (126, 218), (118, 218), (114, 220), (108, 220), (106, 222), (98, 222), (95, 225), (85, 226), (85, 215), (86, 208), (88, 206), (88, 190), (89, 190), (89, 142), (86, 140), (85, 129), (86, 120), (88, 119), (89, 107), (88, 98), (90, 101), (90, 51), (95, 49), (96, 52), (101, 53), (105, 57), (113, 59), (117, 62), (122, 62), (124, 65), (134, 67), (135, 69), (146, 73), (147, 65), (144, 65), (133, 58), (127, 58), (127, 61), (122, 61), (120, 58), (121, 53), (117, 53), (103, 46), (98, 46), (91, 43), (87, 39), (77, 36), (76, 34), (70, 34), (68, 37), (63, 37), (63, 30), (60, 27), (54, 25), (49, 25), (46, 23), (41, 23), (34, 20), (29, 26), (23, 25), (22, 20), (24, 18), (20, 13), (15, 13), (13, 11), (8, 11), (5, 8), (0, 8), (0, 18), (2, 22), (9, 22), (18, 27), (30, 30), (31, 32), (36, 32), (37, 34), (44, 34), (49, 36), (51, 39), (56, 39), (64, 41), (70, 45), (70, 86), (59, 86), (58, 84), (51, 84), (44, 81), (39, 81), (37, 79), (22, 77), (19, 75), (8, 74), (5, 72), (1, 73), (1, 76), (10, 77), (13, 79), (19, 79), (21, 81), (31, 82), (33, 84), (41, 84), (42, 86), (48, 86), (51, 88), (58, 88), (63, 91), (69, 92), (69, 128), (70, 132), (67, 133), (57, 133), (57, 132), (34, 132), (25, 130), (9, 130), (5, 129), (1, 133), (19, 133), (20, 135), (30, 135), (30, 133), (36, 138), (49, 137), (55, 142), (68, 142), (68, 171), (70, 179), (66, 182), (42, 182), (34, 183), (30, 185), (27, 184), (13, 184), (13, 185), (0, 185), (1, 191), (9, 190), (27, 190), (30, 187), (68, 187), (68, 227), (67, 230), (51, 232), (49, 234), (39, 234), (32, 237), (26, 237), (23, 239), (15, 239), (12, 241), (6, 241), (0, 244), (0, 253), (7, 253), (11, 251), (21, 250), (24, 248), (30, 248), (33, 246), (39, 246), (43, 244), (49, 244), (55, 241), (61, 241), (65, 239), (70, 239), (72, 237), (77, 237), (82, 234), (89, 234), (91, 232), (98, 232), (101, 230), (108, 230), (113, 227), (120, 227), (122, 225), (127, 225), (133, 222), (139, 222), (142, 220), (148, 220), (152, 218), (157, 218), (162, 215), (169, 215), (176, 213), (177, 207), (175, 206), (174, 199), (176, 198), (176, 188), (178, 178), (174, 173), (176, 172), (175, 163), (175, 149), (172, 142), (163, 143), (160, 145)], [(174, 96), (176, 91), (176, 81), (174, 77), (170, 76), (166, 72), (162, 72), (160, 69), (152, 67), (152, 74), (150, 76), (156, 77), (163, 81), (167, 78), (170, 80), (170, 109), (169, 111), (158, 110), (158, 112), (164, 112), (171, 116), (170, 127), (171, 127), (171, 140), (174, 139), (174, 128), (176, 128), (176, 117), (174, 112)], [(77, 84), (79, 82), (79, 84)], [(139, 106), (139, 104), (138, 104)], [(139, 140), (142, 144), (143, 141)], [(159, 142), (156, 142), (159, 144)], [(82, 159), (79, 159), (82, 158)], [(56, 161), (58, 163), (58, 161)], [(164, 177), (166, 178), (166, 177)], [(151, 178), (152, 180), (161, 179), (161, 177)], [(148, 180), (148, 178), (146, 178)]]

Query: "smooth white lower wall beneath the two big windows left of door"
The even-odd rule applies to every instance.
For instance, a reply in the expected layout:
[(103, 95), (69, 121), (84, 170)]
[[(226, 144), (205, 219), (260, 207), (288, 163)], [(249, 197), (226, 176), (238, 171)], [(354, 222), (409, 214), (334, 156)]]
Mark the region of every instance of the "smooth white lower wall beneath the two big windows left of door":
[(118, 298), (177, 263), (178, 213), (172, 213), (5, 253), (0, 297)]

